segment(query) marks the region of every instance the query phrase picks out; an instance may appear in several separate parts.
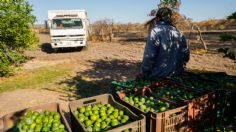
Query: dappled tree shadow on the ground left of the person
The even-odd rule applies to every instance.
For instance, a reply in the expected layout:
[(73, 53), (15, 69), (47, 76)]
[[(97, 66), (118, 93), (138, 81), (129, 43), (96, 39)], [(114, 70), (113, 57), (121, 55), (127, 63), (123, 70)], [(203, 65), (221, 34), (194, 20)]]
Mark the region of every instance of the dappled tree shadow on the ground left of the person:
[(109, 93), (112, 81), (135, 78), (140, 66), (140, 62), (128, 60), (98, 60), (90, 63), (92, 69), (78, 72), (76, 76), (59, 82), (59, 85), (66, 84), (69, 100)]

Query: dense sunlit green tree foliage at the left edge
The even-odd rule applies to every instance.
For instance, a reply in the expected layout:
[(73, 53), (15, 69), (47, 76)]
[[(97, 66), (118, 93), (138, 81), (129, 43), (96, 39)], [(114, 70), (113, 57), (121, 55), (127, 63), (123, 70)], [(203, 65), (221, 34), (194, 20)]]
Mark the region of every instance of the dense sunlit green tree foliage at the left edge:
[(0, 0), (0, 76), (25, 61), (23, 52), (38, 41), (31, 30), (36, 18), (26, 0)]

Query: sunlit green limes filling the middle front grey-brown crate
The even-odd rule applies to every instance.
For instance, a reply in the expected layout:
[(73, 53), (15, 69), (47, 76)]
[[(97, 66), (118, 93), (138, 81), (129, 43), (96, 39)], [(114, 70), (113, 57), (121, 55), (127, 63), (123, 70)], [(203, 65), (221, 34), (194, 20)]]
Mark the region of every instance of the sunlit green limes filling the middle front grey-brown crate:
[(111, 104), (83, 106), (73, 113), (88, 131), (104, 131), (130, 121), (123, 110)]

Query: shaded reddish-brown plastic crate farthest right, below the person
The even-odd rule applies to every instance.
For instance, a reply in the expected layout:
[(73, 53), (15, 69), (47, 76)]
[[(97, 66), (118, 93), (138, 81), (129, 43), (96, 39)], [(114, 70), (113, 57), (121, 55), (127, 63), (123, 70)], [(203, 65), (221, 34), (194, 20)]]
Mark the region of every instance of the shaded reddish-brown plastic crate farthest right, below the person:
[[(203, 126), (212, 126), (215, 123), (215, 93), (208, 90), (196, 90), (192, 88), (186, 88), (181, 85), (175, 84), (173, 81), (162, 81), (156, 84), (150, 85), (147, 89), (153, 94), (158, 92), (163, 86), (172, 86), (173, 89), (182, 89), (195, 94), (193, 99), (179, 98), (179, 102), (186, 102), (188, 104), (188, 125), (189, 131), (199, 131)], [(155, 91), (155, 92), (154, 92)], [(156, 95), (156, 94), (155, 94)], [(170, 100), (169, 98), (165, 98)], [(176, 102), (174, 100), (170, 100)]]

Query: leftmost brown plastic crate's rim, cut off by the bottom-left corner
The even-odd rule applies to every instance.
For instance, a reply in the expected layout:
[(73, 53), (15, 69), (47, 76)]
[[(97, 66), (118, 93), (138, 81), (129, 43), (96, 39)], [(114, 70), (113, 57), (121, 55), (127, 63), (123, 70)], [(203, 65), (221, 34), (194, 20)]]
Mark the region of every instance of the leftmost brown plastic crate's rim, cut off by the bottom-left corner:
[(45, 110), (51, 112), (59, 112), (61, 115), (61, 121), (65, 125), (65, 128), (68, 132), (71, 132), (71, 128), (62, 113), (60, 105), (58, 103), (48, 103), (43, 105), (38, 105), (34, 107), (29, 107), (23, 110), (19, 110), (10, 114), (7, 114), (0, 118), (0, 132), (10, 132), (12, 128), (20, 121), (21, 117), (25, 115), (25, 113), (29, 110), (43, 112)]

